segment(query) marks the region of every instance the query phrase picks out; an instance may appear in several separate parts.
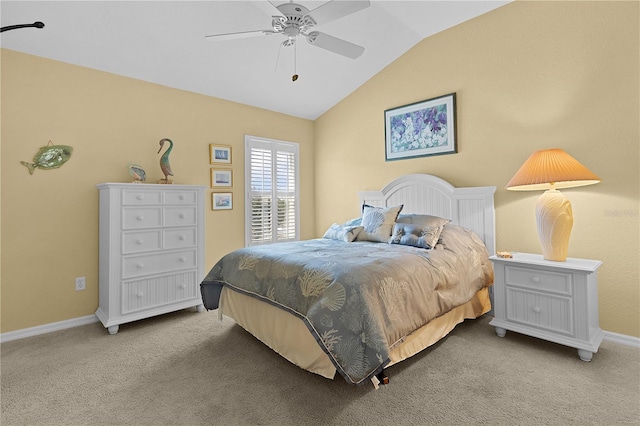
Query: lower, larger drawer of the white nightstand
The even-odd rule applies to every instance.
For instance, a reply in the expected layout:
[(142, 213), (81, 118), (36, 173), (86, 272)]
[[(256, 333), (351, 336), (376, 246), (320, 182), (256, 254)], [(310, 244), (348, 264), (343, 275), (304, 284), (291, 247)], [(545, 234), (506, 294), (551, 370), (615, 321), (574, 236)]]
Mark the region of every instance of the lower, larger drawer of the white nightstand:
[(507, 321), (549, 330), (556, 334), (574, 335), (570, 297), (507, 287), (506, 314)]

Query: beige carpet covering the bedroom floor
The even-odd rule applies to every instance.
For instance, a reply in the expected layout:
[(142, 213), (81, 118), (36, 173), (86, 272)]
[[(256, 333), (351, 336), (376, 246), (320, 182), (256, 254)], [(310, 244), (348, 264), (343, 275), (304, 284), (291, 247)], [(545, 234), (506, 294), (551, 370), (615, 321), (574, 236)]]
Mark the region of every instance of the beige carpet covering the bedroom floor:
[(388, 369), (374, 390), (290, 364), (216, 312), (186, 310), (3, 343), (10, 425), (640, 424), (640, 350), (574, 349), (490, 318)]

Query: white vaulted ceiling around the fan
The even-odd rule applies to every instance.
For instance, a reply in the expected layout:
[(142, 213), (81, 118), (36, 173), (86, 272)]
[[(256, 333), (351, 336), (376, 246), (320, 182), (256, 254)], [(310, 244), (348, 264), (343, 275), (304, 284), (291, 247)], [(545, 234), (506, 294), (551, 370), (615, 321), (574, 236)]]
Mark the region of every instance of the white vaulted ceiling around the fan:
[[(341, 0), (335, 0), (341, 1)], [(282, 36), (211, 41), (209, 34), (269, 29), (266, 0), (5, 1), (3, 48), (177, 89), (315, 119), (422, 39), (508, 1), (376, 1), (317, 30), (361, 45), (349, 59)], [(273, 1), (279, 5), (283, 1)], [(326, 1), (297, 1), (315, 9)], [(266, 7), (265, 7), (266, 6)], [(275, 10), (275, 9), (274, 9)], [(277, 66), (276, 66), (277, 65)], [(299, 79), (292, 81), (294, 70)]]

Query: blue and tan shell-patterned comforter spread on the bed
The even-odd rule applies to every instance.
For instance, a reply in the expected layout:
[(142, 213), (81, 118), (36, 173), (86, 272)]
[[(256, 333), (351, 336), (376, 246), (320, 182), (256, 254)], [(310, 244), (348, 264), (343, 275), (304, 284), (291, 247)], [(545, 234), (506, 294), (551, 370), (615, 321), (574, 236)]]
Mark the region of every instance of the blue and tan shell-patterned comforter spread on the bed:
[(436, 249), (315, 239), (244, 248), (204, 282), (219, 282), (300, 317), (337, 371), (360, 384), (412, 331), (493, 282), (482, 241), (447, 225)]

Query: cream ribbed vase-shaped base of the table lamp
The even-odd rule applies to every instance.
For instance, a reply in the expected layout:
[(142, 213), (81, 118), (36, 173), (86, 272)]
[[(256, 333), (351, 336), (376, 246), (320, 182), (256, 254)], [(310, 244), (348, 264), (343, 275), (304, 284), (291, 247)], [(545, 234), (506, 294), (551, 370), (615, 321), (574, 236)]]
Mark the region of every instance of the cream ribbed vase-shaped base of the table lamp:
[(538, 237), (546, 260), (567, 260), (573, 210), (569, 199), (556, 189), (544, 192), (536, 203)]

